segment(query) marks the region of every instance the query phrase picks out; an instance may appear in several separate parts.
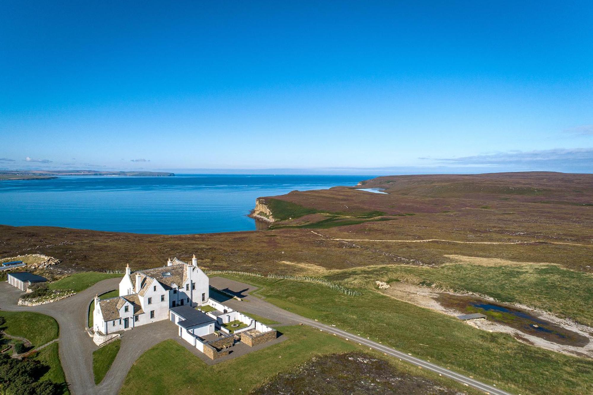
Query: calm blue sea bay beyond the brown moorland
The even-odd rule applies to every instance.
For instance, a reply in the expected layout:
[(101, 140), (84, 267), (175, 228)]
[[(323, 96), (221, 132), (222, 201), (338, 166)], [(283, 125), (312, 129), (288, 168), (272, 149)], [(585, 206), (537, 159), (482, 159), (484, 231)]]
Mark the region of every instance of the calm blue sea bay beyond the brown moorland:
[(255, 230), (259, 196), (356, 185), (373, 176), (178, 174), (0, 181), (0, 224), (189, 234)]

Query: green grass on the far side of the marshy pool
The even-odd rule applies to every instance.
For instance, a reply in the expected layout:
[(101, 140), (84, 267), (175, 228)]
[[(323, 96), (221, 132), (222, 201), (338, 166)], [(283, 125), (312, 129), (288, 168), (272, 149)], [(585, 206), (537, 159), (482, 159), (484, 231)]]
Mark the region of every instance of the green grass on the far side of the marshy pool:
[(403, 280), (429, 286), (435, 284), (453, 291), (488, 295), (501, 302), (518, 302), (593, 325), (593, 275), (557, 265), (390, 265), (342, 270), (328, 278), (365, 288), (374, 286), (377, 280)]

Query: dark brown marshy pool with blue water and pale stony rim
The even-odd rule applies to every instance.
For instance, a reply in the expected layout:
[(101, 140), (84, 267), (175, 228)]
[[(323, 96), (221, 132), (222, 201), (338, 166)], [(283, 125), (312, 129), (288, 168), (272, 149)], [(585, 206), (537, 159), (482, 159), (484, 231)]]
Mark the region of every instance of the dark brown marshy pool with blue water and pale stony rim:
[(495, 304), (476, 297), (445, 293), (438, 294), (436, 301), (443, 307), (454, 308), (464, 314), (482, 313), (490, 321), (505, 324), (527, 335), (541, 337), (549, 342), (576, 347), (582, 347), (589, 343), (589, 339), (579, 333), (517, 308)]

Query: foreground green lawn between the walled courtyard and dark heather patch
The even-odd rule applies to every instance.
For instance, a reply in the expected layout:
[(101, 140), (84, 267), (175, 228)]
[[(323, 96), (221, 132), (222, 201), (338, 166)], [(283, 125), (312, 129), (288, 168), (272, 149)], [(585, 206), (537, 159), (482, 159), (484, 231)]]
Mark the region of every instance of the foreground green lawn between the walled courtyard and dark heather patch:
[[(283, 326), (279, 330), (286, 336), (283, 342), (213, 366), (206, 365), (175, 340), (165, 340), (138, 358), (128, 372), (120, 394), (247, 393), (279, 372), (291, 371), (315, 355), (363, 349), (354, 342), (307, 326)], [(375, 357), (382, 356), (368, 348), (365, 352)], [(162, 361), (175, 361), (176, 368), (164, 369)], [(401, 371), (429, 377), (470, 394), (475, 393), (424, 369), (403, 364), (394, 358), (388, 361)]]

